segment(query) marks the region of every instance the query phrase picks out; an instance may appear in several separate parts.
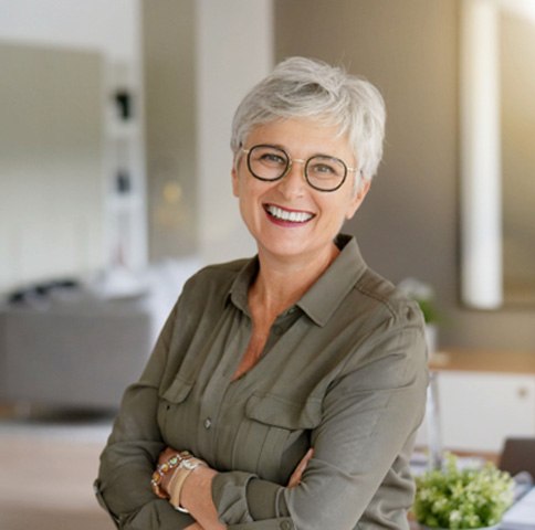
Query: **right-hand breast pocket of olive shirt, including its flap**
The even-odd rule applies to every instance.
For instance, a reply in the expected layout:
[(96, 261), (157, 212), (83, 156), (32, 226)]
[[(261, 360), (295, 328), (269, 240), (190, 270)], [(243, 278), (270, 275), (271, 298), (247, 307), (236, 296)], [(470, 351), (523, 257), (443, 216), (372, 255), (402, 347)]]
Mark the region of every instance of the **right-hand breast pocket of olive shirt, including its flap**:
[(237, 468), (282, 484), (298, 462), (290, 458), (291, 468), (286, 466), (285, 451), (293, 447), (298, 455), (304, 454), (310, 444), (310, 431), (321, 420), (322, 401), (318, 399), (297, 401), (279, 394), (253, 393), (246, 402), (245, 418), (238, 435), (238, 446), (246, 451), (239, 452)]

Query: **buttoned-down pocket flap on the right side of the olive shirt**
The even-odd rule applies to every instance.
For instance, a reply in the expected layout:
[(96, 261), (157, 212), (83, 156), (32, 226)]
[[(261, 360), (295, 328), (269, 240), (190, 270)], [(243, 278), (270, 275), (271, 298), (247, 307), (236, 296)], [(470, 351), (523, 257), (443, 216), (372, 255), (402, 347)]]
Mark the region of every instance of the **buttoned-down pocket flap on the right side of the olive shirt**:
[(254, 393), (249, 400), (245, 414), (251, 420), (283, 428), (313, 428), (322, 420), (322, 402), (308, 399), (290, 401), (275, 394)]

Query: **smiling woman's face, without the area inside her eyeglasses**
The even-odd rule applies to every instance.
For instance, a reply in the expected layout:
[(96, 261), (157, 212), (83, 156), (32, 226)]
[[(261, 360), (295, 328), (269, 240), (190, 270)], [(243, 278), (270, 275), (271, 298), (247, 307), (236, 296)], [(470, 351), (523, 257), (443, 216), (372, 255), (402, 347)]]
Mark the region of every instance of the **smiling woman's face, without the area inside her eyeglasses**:
[[(281, 119), (261, 125), (251, 131), (243, 148), (258, 145), (281, 147), (291, 159), (327, 155), (339, 158), (349, 168), (358, 167), (347, 138), (337, 136), (336, 127), (312, 119)], [(358, 173), (349, 171), (336, 191), (315, 190), (306, 182), (304, 163), (300, 162), (293, 163), (282, 179), (266, 182), (251, 174), (246, 155), (238, 157), (232, 189), (261, 256), (310, 259), (321, 257), (322, 253), (329, 255), (334, 237), (344, 221), (355, 214), (369, 188), (369, 183), (359, 186), (356, 194)]]

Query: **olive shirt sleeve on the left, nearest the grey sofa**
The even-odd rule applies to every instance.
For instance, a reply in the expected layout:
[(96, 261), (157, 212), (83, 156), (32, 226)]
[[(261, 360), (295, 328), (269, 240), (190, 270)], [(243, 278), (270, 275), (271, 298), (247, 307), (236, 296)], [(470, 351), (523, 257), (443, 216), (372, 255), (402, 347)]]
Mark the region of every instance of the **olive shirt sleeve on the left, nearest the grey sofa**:
[(193, 522), (189, 515), (157, 498), (150, 487), (155, 464), (165, 447), (157, 425), (158, 386), (176, 311), (177, 307), (164, 326), (141, 378), (126, 390), (101, 455), (95, 495), (116, 527), (124, 530), (179, 530)]

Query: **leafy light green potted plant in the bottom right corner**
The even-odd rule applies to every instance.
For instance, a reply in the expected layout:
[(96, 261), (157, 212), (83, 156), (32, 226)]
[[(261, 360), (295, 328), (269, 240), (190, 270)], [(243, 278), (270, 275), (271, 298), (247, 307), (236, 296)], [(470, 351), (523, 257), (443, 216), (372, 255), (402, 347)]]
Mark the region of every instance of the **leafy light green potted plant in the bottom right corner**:
[(492, 463), (460, 468), (447, 454), (441, 469), (416, 477), (412, 511), (422, 528), (497, 528), (513, 504), (514, 480)]

